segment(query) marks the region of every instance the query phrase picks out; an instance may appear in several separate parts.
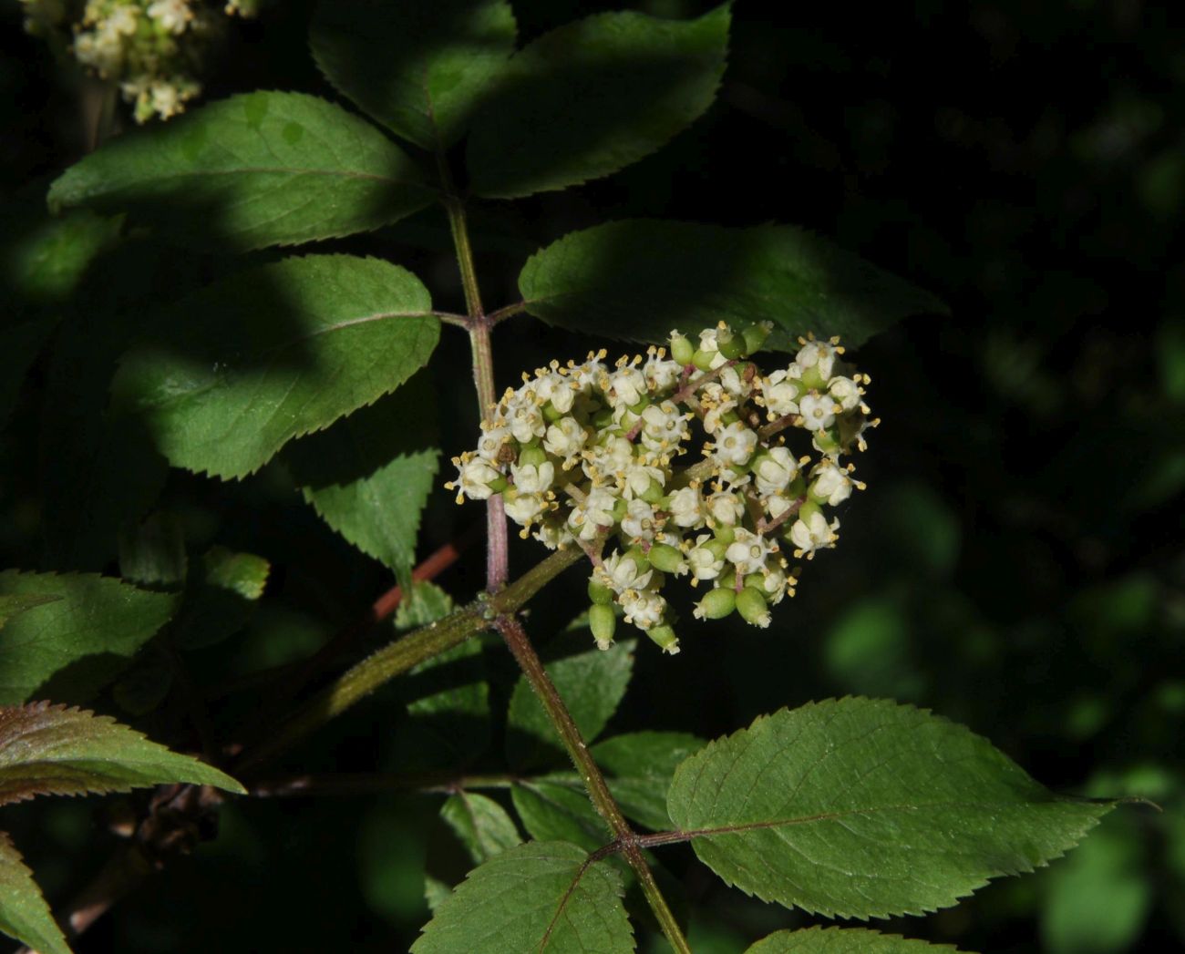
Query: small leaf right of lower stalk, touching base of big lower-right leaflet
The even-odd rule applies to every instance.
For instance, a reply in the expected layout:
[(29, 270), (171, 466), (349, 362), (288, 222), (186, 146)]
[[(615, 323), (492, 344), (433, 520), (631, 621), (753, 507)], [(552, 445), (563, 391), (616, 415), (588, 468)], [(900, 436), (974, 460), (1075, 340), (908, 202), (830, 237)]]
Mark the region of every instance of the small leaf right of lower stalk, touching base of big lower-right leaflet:
[(591, 751), (624, 815), (666, 831), (674, 827), (666, 809), (671, 779), (705, 744), (686, 732), (628, 732), (598, 742)]

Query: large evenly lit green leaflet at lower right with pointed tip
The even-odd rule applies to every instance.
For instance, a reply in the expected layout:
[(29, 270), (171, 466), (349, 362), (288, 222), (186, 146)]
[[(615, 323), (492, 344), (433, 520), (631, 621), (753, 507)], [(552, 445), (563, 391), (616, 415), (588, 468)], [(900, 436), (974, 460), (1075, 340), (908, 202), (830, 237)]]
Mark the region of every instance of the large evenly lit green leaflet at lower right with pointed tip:
[(709, 743), (667, 798), (725, 882), (841, 917), (954, 904), (1059, 857), (1113, 807), (1055, 795), (963, 726), (863, 698), (781, 710)]

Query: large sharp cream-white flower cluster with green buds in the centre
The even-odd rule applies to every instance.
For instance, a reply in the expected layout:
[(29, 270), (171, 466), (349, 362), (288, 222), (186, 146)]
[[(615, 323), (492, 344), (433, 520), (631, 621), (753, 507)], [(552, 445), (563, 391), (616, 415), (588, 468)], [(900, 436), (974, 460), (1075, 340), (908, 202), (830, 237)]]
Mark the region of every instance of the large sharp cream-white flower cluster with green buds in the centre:
[[(766, 376), (748, 357), (768, 334), (720, 322), (696, 344), (672, 332), (670, 357), (651, 347), (610, 366), (601, 351), (524, 374), (482, 422), (478, 449), (453, 459), (446, 486), (457, 502), (501, 494), (520, 536), (589, 553), (602, 648), (616, 606), (678, 652), (661, 594), (671, 576), (709, 587), (697, 617), (737, 612), (769, 626), (769, 607), (794, 594), (787, 553), (809, 559), (834, 545), (839, 520), (825, 507), (864, 486), (840, 459), (863, 450), (877, 422), (863, 398), (869, 378), (843, 361), (839, 339), (800, 339), (795, 359)], [(792, 449), (795, 433), (813, 453)], [(677, 467), (697, 441), (700, 460)]]

